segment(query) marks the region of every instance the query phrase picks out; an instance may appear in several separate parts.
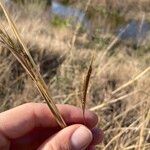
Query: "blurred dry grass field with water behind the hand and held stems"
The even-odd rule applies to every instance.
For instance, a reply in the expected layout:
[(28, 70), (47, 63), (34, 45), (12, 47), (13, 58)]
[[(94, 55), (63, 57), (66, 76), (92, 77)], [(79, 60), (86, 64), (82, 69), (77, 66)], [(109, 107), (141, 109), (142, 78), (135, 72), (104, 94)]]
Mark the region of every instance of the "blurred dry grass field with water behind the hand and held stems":
[[(150, 1), (3, 1), (56, 103), (80, 107), (95, 56), (87, 109), (105, 132), (97, 149), (149, 150)], [(0, 24), (12, 35), (1, 9)], [(27, 102), (44, 101), (0, 45), (0, 112)]]

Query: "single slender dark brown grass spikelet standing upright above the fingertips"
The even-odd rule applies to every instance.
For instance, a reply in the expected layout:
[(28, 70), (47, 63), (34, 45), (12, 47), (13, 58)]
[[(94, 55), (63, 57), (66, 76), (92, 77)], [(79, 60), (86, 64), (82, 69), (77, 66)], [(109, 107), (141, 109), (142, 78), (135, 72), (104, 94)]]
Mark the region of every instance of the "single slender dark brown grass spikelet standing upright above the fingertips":
[(87, 75), (85, 77), (84, 80), (84, 84), (83, 84), (83, 96), (82, 96), (82, 110), (83, 110), (83, 116), (85, 113), (85, 106), (86, 106), (86, 96), (87, 96), (87, 90), (88, 90), (88, 86), (89, 86), (89, 81), (90, 81), (90, 77), (91, 77), (91, 73), (92, 73), (92, 65), (93, 65), (93, 60), (94, 57), (91, 60)]

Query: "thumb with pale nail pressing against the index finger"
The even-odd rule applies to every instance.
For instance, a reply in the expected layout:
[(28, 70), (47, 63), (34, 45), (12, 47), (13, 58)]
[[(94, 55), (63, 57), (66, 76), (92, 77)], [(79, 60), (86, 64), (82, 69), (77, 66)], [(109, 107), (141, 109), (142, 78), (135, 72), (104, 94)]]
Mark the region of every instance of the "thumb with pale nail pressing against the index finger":
[(83, 125), (66, 127), (47, 139), (39, 150), (84, 150), (93, 139), (91, 131)]

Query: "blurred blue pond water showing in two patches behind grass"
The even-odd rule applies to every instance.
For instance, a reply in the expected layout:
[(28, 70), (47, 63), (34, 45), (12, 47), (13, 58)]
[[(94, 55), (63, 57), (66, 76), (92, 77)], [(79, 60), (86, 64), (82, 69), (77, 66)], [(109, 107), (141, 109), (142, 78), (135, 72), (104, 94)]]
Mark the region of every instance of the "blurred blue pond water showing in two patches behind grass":
[[(53, 14), (65, 19), (71, 18), (76, 24), (81, 23), (86, 31), (90, 33), (89, 30), (91, 28), (92, 20), (88, 20), (86, 14), (83, 11), (71, 6), (60, 4), (55, 1), (52, 2), (51, 11)], [(127, 25), (114, 29), (114, 31), (116, 31), (116, 35), (119, 35), (123, 31), (119, 37), (120, 41), (130, 41), (133, 44), (140, 44), (150, 36), (150, 23), (146, 21), (139, 22), (136, 20), (131, 20)]]

